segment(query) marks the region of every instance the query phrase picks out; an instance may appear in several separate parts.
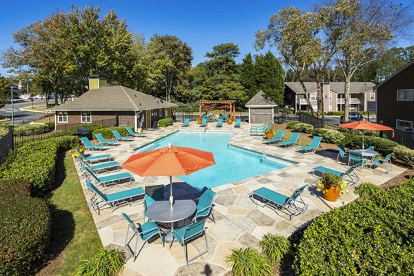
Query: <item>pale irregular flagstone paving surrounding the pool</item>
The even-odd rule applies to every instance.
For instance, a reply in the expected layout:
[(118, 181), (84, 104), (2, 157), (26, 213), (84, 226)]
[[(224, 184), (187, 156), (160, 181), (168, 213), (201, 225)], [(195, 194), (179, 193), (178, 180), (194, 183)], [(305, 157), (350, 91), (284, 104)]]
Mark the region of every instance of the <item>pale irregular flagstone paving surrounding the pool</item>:
[[(266, 233), (278, 233), (288, 237), (298, 228), (306, 225), (314, 217), (328, 212), (332, 208), (342, 206), (357, 198), (353, 190), (362, 182), (369, 181), (380, 185), (404, 172), (404, 168), (393, 166), (393, 172), (384, 173), (382, 168), (365, 169), (359, 168), (357, 175), (361, 180), (350, 186), (350, 191), (341, 195), (335, 202), (326, 201), (322, 193), (317, 192), (315, 184), (317, 179), (309, 174), (315, 166), (327, 166), (337, 170), (345, 170), (343, 163), (336, 162), (337, 153), (329, 150), (319, 150), (313, 154), (304, 155), (297, 152), (297, 148), (280, 148), (276, 145), (263, 144), (262, 137), (249, 135), (250, 125), (242, 123), (241, 128), (234, 128), (233, 125), (224, 124), (222, 128), (216, 128), (216, 123), (209, 123), (207, 131), (234, 132), (230, 145), (262, 152), (266, 155), (293, 161), (296, 164), (280, 170), (274, 170), (264, 175), (257, 175), (231, 184), (213, 188), (217, 192), (215, 197), (214, 215), (215, 221), (207, 220), (206, 227), (209, 252), (191, 262), (188, 268), (185, 264), (184, 251), (180, 244), (174, 243), (169, 249), (169, 244), (165, 248), (160, 244), (159, 239), (146, 244), (135, 262), (128, 256), (122, 275), (226, 275), (230, 268), (226, 266), (224, 259), (231, 253), (233, 248), (242, 246), (257, 247), (257, 242)], [(194, 121), (190, 126), (183, 128), (180, 123), (168, 128), (148, 131), (146, 137), (137, 137), (133, 141), (121, 142), (119, 146), (113, 146), (105, 150), (105, 153), (115, 157), (116, 161), (122, 164), (135, 148), (139, 148), (151, 143), (161, 137), (176, 131), (203, 131)], [(87, 152), (95, 154), (94, 152)], [(98, 153), (96, 153), (98, 154)], [(79, 169), (79, 165), (76, 164)], [(85, 178), (79, 175), (81, 183), (84, 184)], [(104, 193), (115, 193), (119, 190), (126, 190), (137, 186), (148, 186), (155, 184), (169, 184), (168, 177), (139, 177), (134, 175), (135, 182), (128, 186), (119, 185), (104, 188)], [(182, 183), (177, 177), (173, 177), (173, 192), (176, 198), (194, 198), (194, 188)], [(304, 191), (302, 197), (308, 210), (302, 215), (288, 220), (288, 215), (270, 208), (257, 206), (250, 200), (248, 195), (251, 191), (266, 187), (275, 190), (283, 195), (290, 196), (293, 190), (304, 184), (310, 184)], [(83, 186), (86, 199), (92, 197), (92, 193)], [(166, 193), (168, 185), (166, 186)], [(121, 213), (130, 215), (131, 219), (143, 222), (144, 204), (142, 200), (132, 202), (130, 206), (120, 206), (112, 211), (111, 208), (101, 210), (100, 215), (92, 211), (99, 236), (103, 246), (114, 246), (123, 248), (126, 238), (128, 224)], [(141, 244), (141, 241), (139, 241)], [(205, 250), (204, 237), (196, 239), (188, 245), (188, 258), (197, 255), (198, 252)]]

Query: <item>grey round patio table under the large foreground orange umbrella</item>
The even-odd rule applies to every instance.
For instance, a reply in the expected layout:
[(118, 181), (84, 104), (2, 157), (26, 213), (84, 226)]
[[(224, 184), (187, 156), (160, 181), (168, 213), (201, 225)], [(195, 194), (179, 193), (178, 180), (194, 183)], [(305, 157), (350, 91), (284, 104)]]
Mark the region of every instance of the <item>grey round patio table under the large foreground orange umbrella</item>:
[(171, 230), (165, 231), (164, 242), (172, 241), (174, 223), (181, 221), (195, 213), (195, 202), (191, 199), (175, 200), (170, 206), (169, 201), (157, 201), (147, 209), (148, 219), (163, 224), (171, 224)]

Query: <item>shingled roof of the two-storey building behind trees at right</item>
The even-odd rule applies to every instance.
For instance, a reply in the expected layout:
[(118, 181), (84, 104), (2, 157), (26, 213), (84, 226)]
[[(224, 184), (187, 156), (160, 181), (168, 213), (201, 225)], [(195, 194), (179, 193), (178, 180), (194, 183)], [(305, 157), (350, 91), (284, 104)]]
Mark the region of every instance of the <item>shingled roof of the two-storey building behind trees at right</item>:
[[(308, 92), (314, 92), (317, 87), (315, 82), (305, 82), (305, 87)], [(288, 86), (291, 90), (297, 94), (304, 94), (302, 85), (299, 82), (285, 82), (285, 85)], [(329, 89), (338, 94), (344, 94), (344, 82), (331, 82), (329, 83)], [(373, 82), (351, 82), (350, 83), (351, 93), (366, 93), (370, 92), (375, 88), (375, 83)]]

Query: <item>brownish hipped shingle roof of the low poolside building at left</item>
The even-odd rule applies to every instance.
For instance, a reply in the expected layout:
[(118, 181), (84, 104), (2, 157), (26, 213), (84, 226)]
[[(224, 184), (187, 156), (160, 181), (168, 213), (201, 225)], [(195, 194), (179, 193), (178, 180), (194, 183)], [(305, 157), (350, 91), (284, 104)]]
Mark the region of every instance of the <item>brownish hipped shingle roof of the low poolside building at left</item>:
[(124, 86), (103, 86), (89, 90), (75, 101), (66, 101), (50, 111), (137, 111), (177, 106), (169, 101)]

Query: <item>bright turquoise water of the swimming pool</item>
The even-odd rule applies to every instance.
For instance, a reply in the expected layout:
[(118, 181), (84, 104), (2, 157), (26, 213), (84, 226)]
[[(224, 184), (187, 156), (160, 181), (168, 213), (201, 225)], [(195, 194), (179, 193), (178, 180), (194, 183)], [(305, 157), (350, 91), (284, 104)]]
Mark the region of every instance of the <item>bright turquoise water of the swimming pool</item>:
[(208, 188), (221, 186), (292, 165), (288, 161), (264, 159), (266, 155), (228, 146), (232, 136), (232, 133), (222, 132), (176, 132), (136, 151), (155, 150), (172, 144), (172, 146), (186, 146), (213, 152), (215, 165), (193, 172), (191, 175), (178, 176), (179, 179), (200, 189), (204, 186)]

